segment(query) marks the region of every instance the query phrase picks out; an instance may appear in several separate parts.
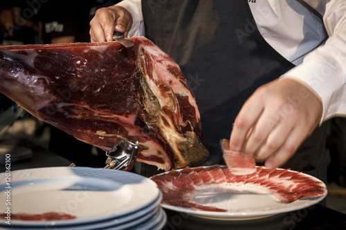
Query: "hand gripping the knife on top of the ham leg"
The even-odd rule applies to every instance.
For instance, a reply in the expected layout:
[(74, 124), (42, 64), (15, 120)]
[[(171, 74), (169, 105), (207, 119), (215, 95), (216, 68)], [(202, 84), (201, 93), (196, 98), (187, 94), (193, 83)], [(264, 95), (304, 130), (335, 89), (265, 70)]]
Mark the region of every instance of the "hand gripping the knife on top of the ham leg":
[(120, 6), (100, 8), (90, 21), (91, 42), (113, 41), (114, 30), (127, 33), (132, 25), (132, 16), (128, 10)]

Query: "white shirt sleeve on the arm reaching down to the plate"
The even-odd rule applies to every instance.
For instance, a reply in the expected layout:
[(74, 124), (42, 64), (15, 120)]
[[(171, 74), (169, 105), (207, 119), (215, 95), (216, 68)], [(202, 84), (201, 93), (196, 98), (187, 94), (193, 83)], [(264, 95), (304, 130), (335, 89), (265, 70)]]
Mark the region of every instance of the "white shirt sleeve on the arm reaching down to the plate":
[(335, 115), (346, 115), (346, 1), (329, 1), (318, 10), (329, 38), (283, 77), (298, 79), (315, 90), (322, 100), (322, 123)]

